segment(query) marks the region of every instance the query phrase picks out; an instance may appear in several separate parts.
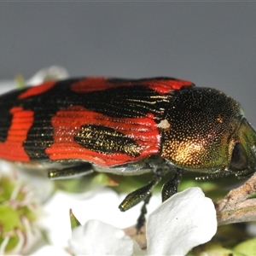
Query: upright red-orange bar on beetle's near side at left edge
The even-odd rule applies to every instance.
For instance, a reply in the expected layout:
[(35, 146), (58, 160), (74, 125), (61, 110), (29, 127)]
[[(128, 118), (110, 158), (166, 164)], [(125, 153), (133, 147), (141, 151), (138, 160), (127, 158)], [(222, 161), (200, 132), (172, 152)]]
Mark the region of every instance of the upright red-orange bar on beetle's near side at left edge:
[(20, 107), (11, 108), (13, 119), (5, 142), (0, 143), (1, 158), (13, 161), (28, 162), (29, 156), (22, 147), (27, 132), (33, 123), (33, 112)]

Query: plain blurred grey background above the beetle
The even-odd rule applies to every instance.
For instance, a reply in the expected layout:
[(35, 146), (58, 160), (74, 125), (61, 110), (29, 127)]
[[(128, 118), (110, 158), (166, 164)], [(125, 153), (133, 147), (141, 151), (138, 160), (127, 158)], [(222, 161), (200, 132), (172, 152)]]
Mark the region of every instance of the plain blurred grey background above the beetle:
[(256, 3), (2, 2), (0, 79), (171, 76), (241, 102), (256, 126)]

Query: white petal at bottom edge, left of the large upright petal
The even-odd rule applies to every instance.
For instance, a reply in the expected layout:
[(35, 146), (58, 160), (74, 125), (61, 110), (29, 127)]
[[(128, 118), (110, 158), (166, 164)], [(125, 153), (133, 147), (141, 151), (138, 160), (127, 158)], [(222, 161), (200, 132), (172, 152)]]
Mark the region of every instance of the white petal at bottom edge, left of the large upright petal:
[(143, 255), (123, 230), (99, 220), (90, 220), (74, 229), (68, 243), (75, 255)]

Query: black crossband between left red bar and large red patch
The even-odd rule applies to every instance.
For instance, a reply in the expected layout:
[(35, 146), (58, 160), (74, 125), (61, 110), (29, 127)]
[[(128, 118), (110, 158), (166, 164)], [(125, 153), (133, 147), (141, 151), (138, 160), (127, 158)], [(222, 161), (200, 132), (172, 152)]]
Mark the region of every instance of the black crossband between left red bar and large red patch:
[(27, 133), (23, 147), (31, 160), (48, 160), (45, 149), (54, 143), (54, 128), (51, 125), (51, 118), (55, 113), (69, 106), (68, 90), (69, 85), (79, 79), (68, 79), (57, 82), (54, 87), (43, 94), (32, 96), (21, 100), (25, 108), (34, 111), (34, 122)]

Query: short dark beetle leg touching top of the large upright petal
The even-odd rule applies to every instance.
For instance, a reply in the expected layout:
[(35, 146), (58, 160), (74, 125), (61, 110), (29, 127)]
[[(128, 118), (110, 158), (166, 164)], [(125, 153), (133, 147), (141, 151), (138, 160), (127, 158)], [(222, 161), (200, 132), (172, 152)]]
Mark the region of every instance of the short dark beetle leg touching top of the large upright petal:
[(183, 177), (183, 171), (181, 169), (177, 169), (174, 177), (168, 180), (162, 188), (162, 201), (166, 201), (172, 195), (177, 193), (177, 186), (180, 183)]

